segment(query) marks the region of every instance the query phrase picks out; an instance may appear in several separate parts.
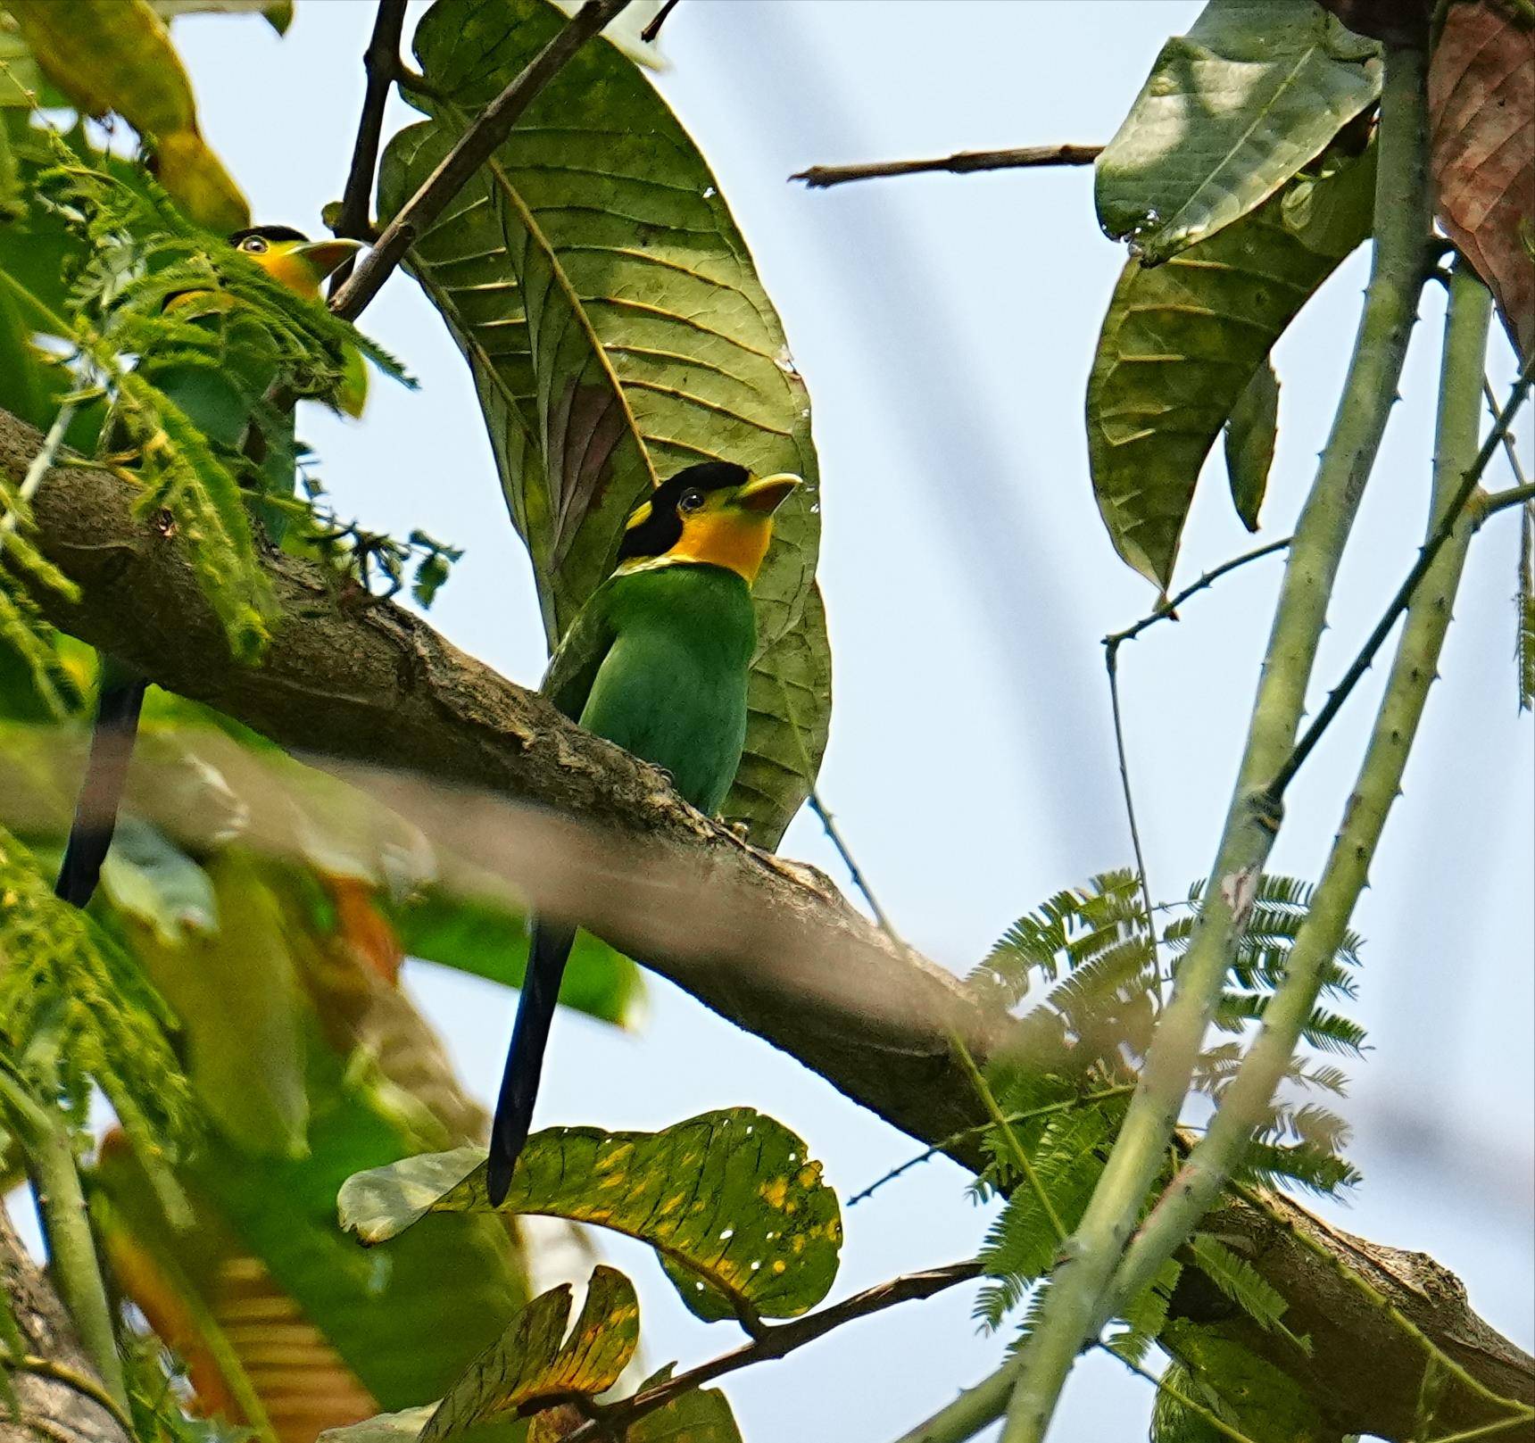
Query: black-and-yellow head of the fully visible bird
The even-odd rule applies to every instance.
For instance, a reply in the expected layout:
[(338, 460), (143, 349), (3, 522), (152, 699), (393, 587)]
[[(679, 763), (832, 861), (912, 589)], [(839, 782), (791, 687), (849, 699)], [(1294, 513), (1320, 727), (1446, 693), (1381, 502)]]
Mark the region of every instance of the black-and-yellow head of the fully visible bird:
[(694, 562), (725, 566), (746, 579), (772, 540), (774, 513), (800, 485), (798, 476), (752, 476), (728, 461), (706, 461), (663, 480), (629, 516), (619, 543), (619, 571)]

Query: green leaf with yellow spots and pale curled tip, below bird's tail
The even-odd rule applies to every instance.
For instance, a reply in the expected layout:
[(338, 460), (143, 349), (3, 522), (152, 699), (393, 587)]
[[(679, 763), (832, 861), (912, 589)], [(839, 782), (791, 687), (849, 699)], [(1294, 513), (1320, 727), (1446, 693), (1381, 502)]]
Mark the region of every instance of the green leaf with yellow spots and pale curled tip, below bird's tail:
[[(341, 1225), (385, 1242), (428, 1213), (488, 1211), (484, 1148), (407, 1157), (348, 1177)], [(749, 1107), (659, 1133), (560, 1127), (534, 1133), (502, 1208), (639, 1237), (738, 1308), (797, 1317), (837, 1276), (843, 1227), (821, 1165), (781, 1122)]]

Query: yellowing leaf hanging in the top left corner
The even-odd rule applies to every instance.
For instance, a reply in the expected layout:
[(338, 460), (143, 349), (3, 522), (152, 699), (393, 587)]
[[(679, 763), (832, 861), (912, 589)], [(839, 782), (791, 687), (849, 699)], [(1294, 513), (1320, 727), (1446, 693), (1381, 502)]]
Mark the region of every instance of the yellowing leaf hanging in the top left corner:
[(192, 86), (146, 0), (6, 0), (49, 80), (87, 115), (123, 117), (155, 143), (157, 175), (210, 230), (250, 224), (250, 209), (196, 126)]

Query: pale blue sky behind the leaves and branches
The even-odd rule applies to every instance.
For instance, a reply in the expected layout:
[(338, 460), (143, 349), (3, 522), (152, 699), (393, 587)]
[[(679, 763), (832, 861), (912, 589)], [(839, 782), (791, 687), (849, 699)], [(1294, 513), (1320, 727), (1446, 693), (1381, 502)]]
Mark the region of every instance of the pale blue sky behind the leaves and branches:
[[(421, 6), (413, 5), (413, 17)], [(1081, 410), (1122, 255), (1102, 238), (1087, 170), (935, 177), (807, 193), (817, 161), (961, 147), (1102, 141), (1188, 0), (685, 0), (660, 78), (718, 177), (783, 316), (815, 407), (826, 537), (821, 582), (837, 662), (823, 774), (829, 804), (910, 939), (956, 970), (1019, 912), (1125, 864), (1101, 648), (1150, 588), (1113, 554), (1091, 502)], [(204, 129), (258, 218), (319, 230), (339, 195), (361, 98), (365, 0), (298, 0), (286, 40), (255, 20), (177, 34)], [(273, 101), (279, 103), (273, 103)], [(391, 121), (408, 112), (396, 107)], [(1329, 282), (1277, 352), (1282, 436), (1265, 536), (1283, 536), (1331, 419), (1365, 256)], [(1424, 322), (1319, 668), (1337, 677), (1421, 531), (1443, 302)], [(309, 418), (338, 505), (467, 546), (433, 611), (454, 642), (528, 685), (542, 629), (505, 520), (462, 362), (414, 284), (365, 318), (422, 390), (376, 390), (364, 427)], [(1495, 370), (1507, 373), (1501, 339)], [(1529, 428), (1523, 428), (1526, 453)], [(1501, 473), (1500, 473), (1501, 476)], [(1213, 461), (1180, 563), (1190, 580), (1251, 542)], [(1515, 714), (1517, 522), (1477, 540), (1458, 625), (1406, 797), (1357, 926), (1369, 939), (1357, 1015), (1375, 1047), (1346, 1111), (1366, 1182), (1323, 1211), (1421, 1248), (1480, 1311), (1535, 1342), (1530, 916), (1532, 728)], [(1153, 881), (1180, 895), (1208, 870), (1266, 636), (1277, 563), (1230, 579), (1124, 655)], [(1277, 870), (1314, 877), (1357, 766), (1362, 688), (1292, 791)], [(840, 877), (814, 820), (784, 852)], [(513, 998), (413, 969), (408, 982), (490, 1101)], [(754, 1104), (798, 1130), (843, 1194), (916, 1147), (797, 1062), (652, 982), (635, 1035), (562, 1016), (540, 1122), (657, 1127)], [(846, 1217), (838, 1293), (970, 1253), (985, 1214), (935, 1162)], [(649, 1357), (731, 1345), (691, 1320), (637, 1247)], [(907, 1305), (728, 1383), (749, 1443), (881, 1443), (976, 1382), (1001, 1340), (976, 1337), (970, 1294)], [(1144, 1435), (1150, 1391), (1090, 1360), (1062, 1443)]]

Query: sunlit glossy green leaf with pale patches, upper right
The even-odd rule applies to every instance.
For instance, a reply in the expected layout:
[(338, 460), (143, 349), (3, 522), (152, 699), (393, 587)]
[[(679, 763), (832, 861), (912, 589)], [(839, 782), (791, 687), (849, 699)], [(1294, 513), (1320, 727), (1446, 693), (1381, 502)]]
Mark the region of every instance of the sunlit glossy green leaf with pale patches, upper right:
[(1098, 218), (1165, 261), (1271, 196), (1378, 95), (1378, 46), (1314, 0), (1210, 0), (1099, 157)]

